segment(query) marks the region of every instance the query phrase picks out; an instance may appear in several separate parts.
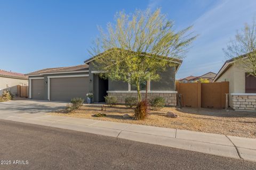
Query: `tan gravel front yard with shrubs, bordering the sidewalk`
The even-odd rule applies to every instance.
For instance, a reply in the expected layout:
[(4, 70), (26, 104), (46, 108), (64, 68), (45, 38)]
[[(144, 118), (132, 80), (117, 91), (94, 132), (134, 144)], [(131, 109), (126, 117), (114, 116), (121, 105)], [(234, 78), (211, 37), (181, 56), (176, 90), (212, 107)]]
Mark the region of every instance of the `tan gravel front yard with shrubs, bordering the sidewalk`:
[[(169, 111), (174, 112), (179, 117), (167, 117), (166, 112)], [(97, 113), (105, 113), (107, 116), (93, 117)], [(74, 113), (57, 111), (50, 114), (256, 138), (256, 112), (165, 107), (161, 111), (150, 111), (146, 120), (138, 121), (132, 118), (133, 109), (122, 105), (107, 107), (106, 111), (101, 111), (101, 105), (86, 104), (74, 111)], [(123, 118), (124, 114), (129, 114), (131, 118)]]

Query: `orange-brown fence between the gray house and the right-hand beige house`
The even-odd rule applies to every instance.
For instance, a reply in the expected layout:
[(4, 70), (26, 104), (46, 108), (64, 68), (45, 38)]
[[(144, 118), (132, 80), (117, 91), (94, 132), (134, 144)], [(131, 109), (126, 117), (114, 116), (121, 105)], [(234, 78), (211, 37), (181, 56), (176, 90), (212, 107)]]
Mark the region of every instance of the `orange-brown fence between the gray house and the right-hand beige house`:
[(182, 95), (181, 104), (185, 107), (225, 108), (229, 82), (176, 82), (176, 91)]

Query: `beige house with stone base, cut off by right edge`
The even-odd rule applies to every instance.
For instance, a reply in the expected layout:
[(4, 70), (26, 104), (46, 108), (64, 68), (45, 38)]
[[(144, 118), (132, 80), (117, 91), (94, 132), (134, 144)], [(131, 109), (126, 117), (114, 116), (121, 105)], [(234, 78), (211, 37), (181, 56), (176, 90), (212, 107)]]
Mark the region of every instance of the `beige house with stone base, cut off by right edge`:
[(249, 76), (236, 58), (227, 60), (213, 80), (222, 81), (229, 81), (230, 107), (239, 111), (256, 111), (256, 78)]

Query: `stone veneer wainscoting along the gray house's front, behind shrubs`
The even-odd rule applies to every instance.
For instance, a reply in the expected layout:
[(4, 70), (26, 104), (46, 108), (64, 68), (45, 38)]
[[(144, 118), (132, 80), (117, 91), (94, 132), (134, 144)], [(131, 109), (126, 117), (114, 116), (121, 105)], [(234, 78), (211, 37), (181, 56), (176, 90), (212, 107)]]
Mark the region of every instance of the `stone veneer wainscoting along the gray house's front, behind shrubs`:
[[(119, 104), (124, 104), (125, 103), (125, 98), (126, 97), (137, 97), (137, 92), (133, 92), (133, 91), (107, 91), (108, 92), (108, 96), (115, 96), (117, 98), (117, 102)], [(163, 97), (165, 99), (165, 105), (166, 106), (176, 106), (177, 105), (177, 97), (176, 97), (177, 91), (173, 91), (173, 92), (157, 92), (157, 91), (148, 91), (148, 95), (147, 98), (151, 99), (154, 97)], [(141, 92), (141, 98), (145, 99), (145, 92), (142, 91)]]

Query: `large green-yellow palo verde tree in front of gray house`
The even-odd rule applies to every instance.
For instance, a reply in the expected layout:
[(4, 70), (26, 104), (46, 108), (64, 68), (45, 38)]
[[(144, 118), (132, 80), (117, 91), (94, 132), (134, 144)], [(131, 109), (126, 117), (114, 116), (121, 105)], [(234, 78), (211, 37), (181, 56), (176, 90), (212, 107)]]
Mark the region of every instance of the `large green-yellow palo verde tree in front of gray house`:
[(128, 15), (119, 12), (115, 24), (102, 28), (89, 51), (95, 56), (94, 65), (105, 73), (101, 77), (128, 82), (137, 87), (141, 101), (141, 84), (149, 79), (159, 81), (158, 71), (175, 66), (173, 60), (185, 56), (188, 46), (195, 39), (191, 27), (174, 31), (173, 22), (161, 10), (137, 10)]

